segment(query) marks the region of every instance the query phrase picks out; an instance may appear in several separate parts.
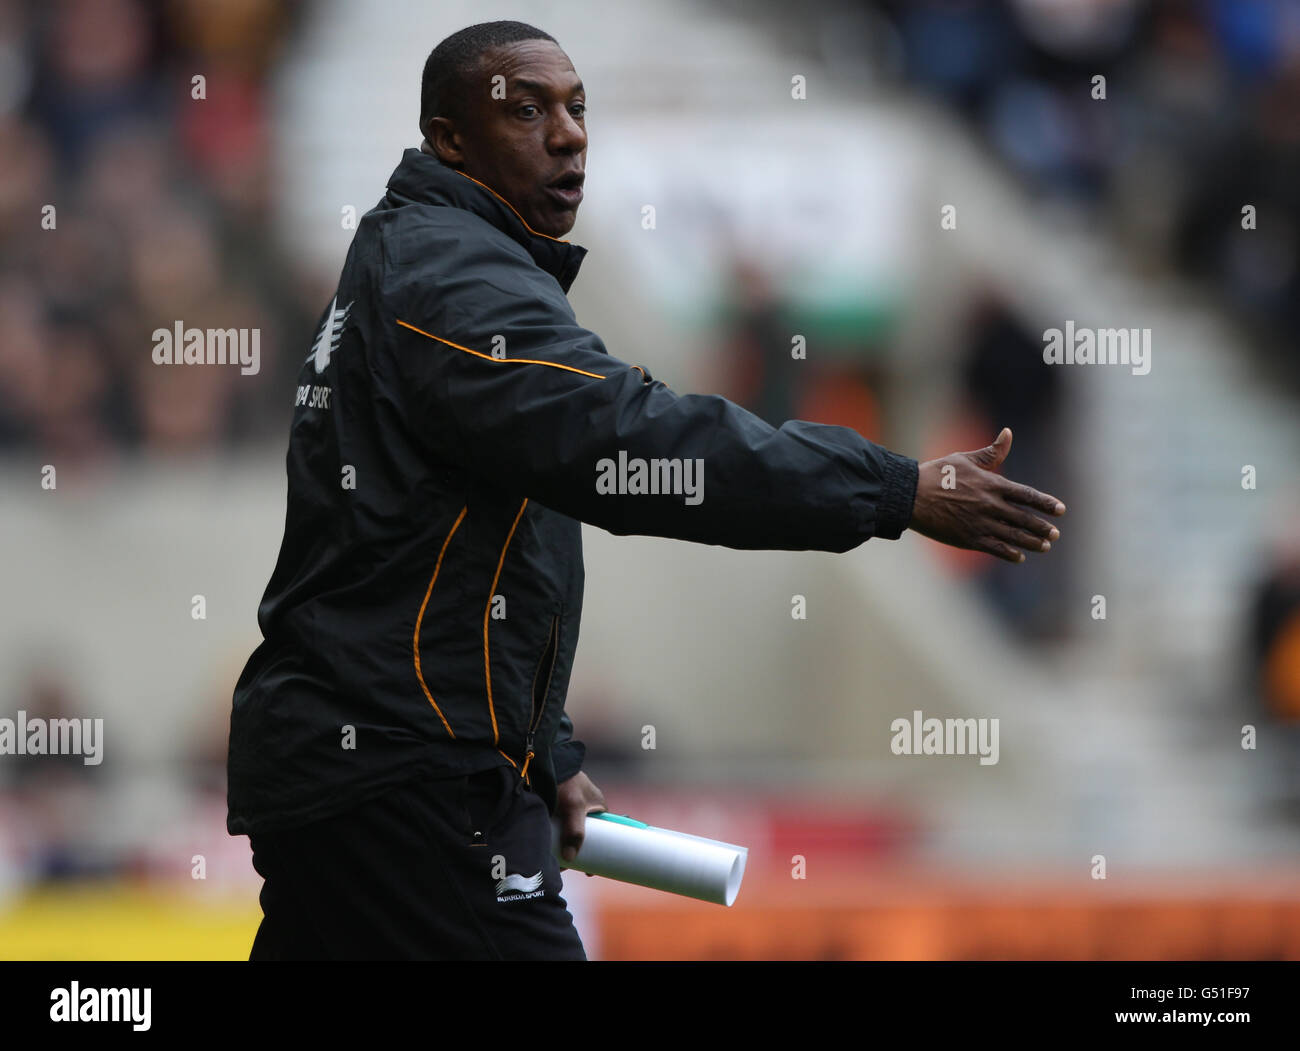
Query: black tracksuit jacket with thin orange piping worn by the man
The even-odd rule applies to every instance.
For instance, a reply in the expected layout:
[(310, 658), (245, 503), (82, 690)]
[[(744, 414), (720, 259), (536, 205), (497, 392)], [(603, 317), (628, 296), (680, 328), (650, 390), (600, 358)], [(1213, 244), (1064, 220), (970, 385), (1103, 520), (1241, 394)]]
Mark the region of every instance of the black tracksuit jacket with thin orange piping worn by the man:
[(564, 713), (581, 522), (827, 552), (906, 528), (914, 459), (608, 354), (566, 298), (585, 254), (419, 150), (358, 224), (298, 377), (264, 641), (234, 693), (231, 834), (507, 764), (554, 812), (584, 758)]

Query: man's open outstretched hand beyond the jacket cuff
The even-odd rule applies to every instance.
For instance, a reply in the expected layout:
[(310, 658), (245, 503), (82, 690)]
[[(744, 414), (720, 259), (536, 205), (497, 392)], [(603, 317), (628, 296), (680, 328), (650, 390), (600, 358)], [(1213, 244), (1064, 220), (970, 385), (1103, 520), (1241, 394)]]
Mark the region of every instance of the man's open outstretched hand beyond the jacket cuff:
[(1010, 449), (1011, 431), (1004, 427), (992, 445), (922, 463), (907, 528), (1008, 562), (1024, 561), (1019, 548), (1048, 550), (1061, 532), (1026, 509), (1063, 515), (1065, 505), (993, 472)]

